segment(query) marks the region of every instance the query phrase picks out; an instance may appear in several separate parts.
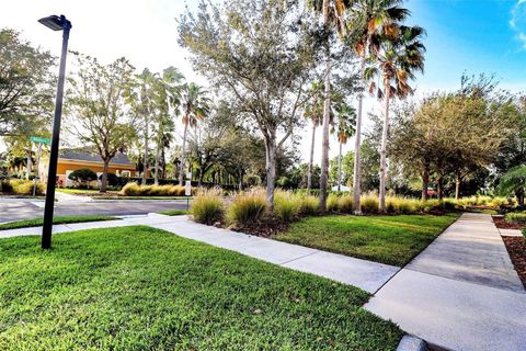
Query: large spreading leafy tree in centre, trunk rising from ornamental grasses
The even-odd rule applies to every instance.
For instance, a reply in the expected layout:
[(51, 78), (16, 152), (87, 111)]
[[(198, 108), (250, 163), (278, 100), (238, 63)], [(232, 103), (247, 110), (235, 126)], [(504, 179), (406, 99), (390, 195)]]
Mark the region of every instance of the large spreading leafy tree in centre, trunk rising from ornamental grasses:
[(180, 42), (194, 67), (236, 104), (264, 138), (266, 199), (274, 204), (277, 150), (300, 124), (317, 58), (296, 1), (232, 0), (219, 9), (202, 2), (180, 21)]

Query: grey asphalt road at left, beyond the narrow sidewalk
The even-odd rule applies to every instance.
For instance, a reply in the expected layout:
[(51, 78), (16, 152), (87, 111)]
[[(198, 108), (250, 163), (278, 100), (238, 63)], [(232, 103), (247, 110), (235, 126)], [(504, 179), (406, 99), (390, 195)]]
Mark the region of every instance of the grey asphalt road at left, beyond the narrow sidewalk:
[[(92, 201), (92, 202), (57, 202), (56, 216), (76, 215), (142, 215), (149, 212), (165, 210), (186, 210), (185, 200), (175, 201)], [(43, 201), (1, 201), (0, 223), (41, 217), (44, 214)]]

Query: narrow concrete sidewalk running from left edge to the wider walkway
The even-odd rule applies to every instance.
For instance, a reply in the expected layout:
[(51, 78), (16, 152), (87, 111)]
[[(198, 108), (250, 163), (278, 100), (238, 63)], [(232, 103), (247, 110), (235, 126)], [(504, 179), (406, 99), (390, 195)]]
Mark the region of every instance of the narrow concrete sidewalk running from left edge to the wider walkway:
[[(149, 214), (148, 216), (130, 217), (121, 220), (57, 225), (54, 227), (54, 233), (129, 225), (147, 225), (164, 229), (184, 238), (203, 241), (266, 262), (358, 286), (369, 293), (375, 293), (399, 271), (397, 267), (201, 225), (191, 222), (187, 216), (170, 217)], [(42, 227), (3, 230), (0, 231), (0, 238), (41, 235), (41, 233)]]

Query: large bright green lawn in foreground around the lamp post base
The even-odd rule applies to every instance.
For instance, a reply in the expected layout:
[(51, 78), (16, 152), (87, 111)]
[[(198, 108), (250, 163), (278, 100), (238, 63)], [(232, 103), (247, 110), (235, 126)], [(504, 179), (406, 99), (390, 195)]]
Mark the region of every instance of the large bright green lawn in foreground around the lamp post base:
[(0, 240), (0, 350), (395, 350), (368, 297), (150, 227)]

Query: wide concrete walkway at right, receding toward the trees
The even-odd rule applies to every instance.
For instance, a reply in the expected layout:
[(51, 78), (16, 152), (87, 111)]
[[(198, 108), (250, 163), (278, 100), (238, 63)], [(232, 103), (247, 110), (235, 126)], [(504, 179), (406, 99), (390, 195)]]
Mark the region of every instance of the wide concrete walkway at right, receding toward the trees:
[(464, 214), (365, 306), (448, 350), (526, 350), (526, 292), (490, 215)]

